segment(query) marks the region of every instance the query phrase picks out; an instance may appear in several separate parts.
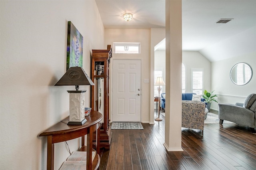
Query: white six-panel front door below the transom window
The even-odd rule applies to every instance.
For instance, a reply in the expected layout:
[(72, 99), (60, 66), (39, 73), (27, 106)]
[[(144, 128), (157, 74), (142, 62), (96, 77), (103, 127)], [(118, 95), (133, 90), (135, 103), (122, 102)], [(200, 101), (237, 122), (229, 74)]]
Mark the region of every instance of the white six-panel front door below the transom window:
[(140, 122), (141, 60), (113, 60), (112, 121)]

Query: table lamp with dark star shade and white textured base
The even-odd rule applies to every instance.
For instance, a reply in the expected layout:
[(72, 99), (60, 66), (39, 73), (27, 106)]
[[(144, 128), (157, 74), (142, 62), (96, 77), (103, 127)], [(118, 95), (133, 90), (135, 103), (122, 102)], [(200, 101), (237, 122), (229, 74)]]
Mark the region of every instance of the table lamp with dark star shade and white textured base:
[(83, 125), (84, 100), (86, 90), (78, 90), (79, 85), (94, 85), (82, 67), (70, 67), (55, 86), (75, 85), (76, 90), (69, 90), (69, 122), (68, 125)]

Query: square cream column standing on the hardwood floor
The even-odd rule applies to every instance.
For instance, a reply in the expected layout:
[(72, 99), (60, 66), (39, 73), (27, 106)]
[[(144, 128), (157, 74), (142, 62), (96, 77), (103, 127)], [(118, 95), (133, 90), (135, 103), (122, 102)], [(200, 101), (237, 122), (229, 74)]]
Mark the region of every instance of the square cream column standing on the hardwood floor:
[(182, 0), (166, 0), (165, 140), (168, 151), (181, 148)]

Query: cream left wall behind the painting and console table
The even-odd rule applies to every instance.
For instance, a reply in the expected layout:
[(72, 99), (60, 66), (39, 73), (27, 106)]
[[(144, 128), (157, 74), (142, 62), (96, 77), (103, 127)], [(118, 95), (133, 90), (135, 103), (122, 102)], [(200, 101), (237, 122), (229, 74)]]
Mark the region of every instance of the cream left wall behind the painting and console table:
[[(105, 49), (104, 26), (94, 0), (0, 1), (1, 169), (46, 169), (46, 137), (38, 135), (68, 116), (69, 95), (54, 84), (66, 72), (67, 21), (84, 37), (83, 68), (92, 49)], [(90, 87), (80, 86), (90, 105)], [(79, 140), (67, 141), (71, 151)], [(69, 156), (55, 144), (55, 166)]]

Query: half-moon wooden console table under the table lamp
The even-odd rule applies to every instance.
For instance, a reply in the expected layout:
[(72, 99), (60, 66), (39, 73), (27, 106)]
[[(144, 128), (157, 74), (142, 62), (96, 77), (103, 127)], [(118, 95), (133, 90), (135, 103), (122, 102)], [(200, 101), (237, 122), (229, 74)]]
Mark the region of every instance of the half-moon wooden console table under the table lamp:
[[(100, 121), (102, 114), (97, 111), (91, 111), (86, 116), (86, 123), (84, 125), (67, 125), (69, 117), (60, 121), (51, 128), (42, 132), (39, 136), (47, 136), (47, 170), (54, 169), (54, 143), (64, 142), (74, 138), (82, 137), (81, 148), (79, 151), (87, 151), (86, 155), (86, 169), (97, 169), (100, 165)], [(96, 131), (96, 156), (92, 161), (92, 135)], [(85, 146), (85, 135), (87, 135), (87, 146)]]

